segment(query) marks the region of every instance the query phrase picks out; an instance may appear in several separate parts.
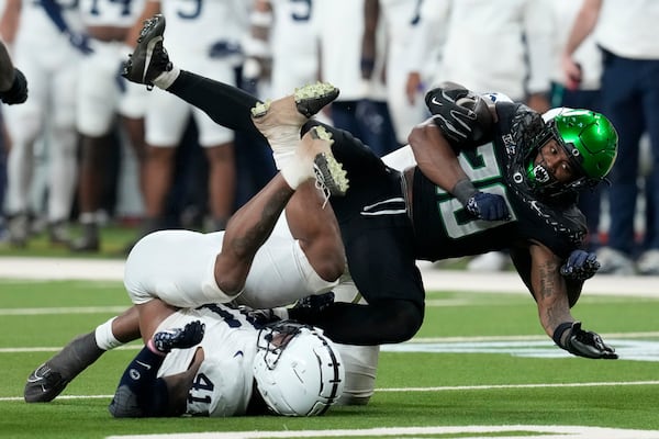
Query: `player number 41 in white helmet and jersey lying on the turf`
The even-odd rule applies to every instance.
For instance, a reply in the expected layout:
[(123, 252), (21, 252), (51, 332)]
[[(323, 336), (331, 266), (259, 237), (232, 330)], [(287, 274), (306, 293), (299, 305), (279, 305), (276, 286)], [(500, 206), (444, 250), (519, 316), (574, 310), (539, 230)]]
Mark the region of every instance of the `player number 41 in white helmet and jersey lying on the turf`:
[(340, 354), (320, 329), (265, 327), (223, 304), (147, 306), (164, 309), (160, 323), (121, 378), (109, 407), (115, 417), (314, 416), (342, 394)]

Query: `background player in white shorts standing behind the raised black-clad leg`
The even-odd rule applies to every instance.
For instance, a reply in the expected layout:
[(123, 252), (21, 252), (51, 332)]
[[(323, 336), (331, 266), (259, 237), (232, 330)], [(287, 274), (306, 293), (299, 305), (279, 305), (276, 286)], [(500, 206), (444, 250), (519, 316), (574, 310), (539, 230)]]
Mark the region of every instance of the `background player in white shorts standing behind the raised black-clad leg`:
[[(142, 21), (163, 13), (167, 18), (168, 47), (185, 66), (209, 78), (236, 85), (235, 69), (242, 64), (241, 40), (247, 32), (249, 1), (243, 0), (147, 0), (133, 27), (136, 40)], [(145, 114), (146, 161), (145, 222), (141, 234), (165, 227), (163, 215), (174, 181), (176, 148), (190, 115), (199, 144), (209, 164), (209, 211), (212, 230), (222, 230), (234, 210), (236, 169), (233, 131), (215, 124), (205, 113), (163, 90), (153, 90)]]

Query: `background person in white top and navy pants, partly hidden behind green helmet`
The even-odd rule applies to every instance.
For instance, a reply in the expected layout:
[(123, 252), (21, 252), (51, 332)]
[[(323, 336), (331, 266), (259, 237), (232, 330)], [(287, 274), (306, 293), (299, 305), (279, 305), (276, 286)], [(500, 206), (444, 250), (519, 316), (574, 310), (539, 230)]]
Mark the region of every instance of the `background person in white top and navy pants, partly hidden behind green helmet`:
[[(601, 112), (600, 77), (602, 75), (602, 56), (593, 36), (589, 36), (574, 52), (574, 60), (579, 65), (581, 76), (568, 78), (561, 64), (561, 56), (568, 42), (570, 30), (574, 24), (582, 0), (554, 0), (555, 45), (554, 70), (551, 77), (551, 106), (571, 109), (591, 109)], [(588, 251), (600, 247), (600, 211), (602, 203), (602, 184), (581, 193), (579, 207), (587, 218), (589, 236)]]

